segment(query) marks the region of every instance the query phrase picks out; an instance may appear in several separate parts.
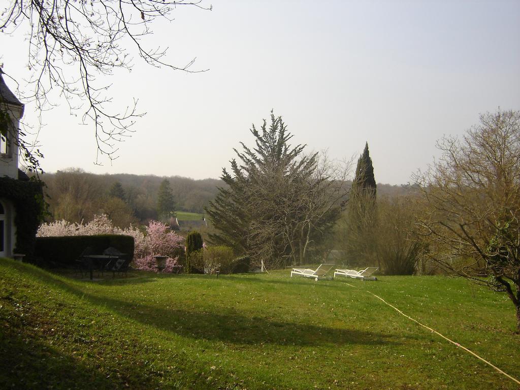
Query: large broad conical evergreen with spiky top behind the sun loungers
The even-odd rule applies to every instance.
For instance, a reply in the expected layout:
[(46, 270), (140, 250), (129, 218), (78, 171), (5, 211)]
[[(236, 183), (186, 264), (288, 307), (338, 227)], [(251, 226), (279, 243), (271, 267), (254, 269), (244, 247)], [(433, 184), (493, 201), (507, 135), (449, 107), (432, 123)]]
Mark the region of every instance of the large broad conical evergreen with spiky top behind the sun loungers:
[(333, 180), (317, 173), (317, 154), (304, 155), (304, 145), (289, 144), (292, 135), (281, 117), (271, 112), (269, 128), (264, 120), (251, 133), (256, 147), (241, 143), (242, 151), (235, 149), (238, 162), (231, 161), (231, 172), (223, 170), (227, 187), (207, 207), (216, 230), (210, 241), (249, 255), (253, 263), (302, 263), (338, 215), (333, 198), (323, 196)]

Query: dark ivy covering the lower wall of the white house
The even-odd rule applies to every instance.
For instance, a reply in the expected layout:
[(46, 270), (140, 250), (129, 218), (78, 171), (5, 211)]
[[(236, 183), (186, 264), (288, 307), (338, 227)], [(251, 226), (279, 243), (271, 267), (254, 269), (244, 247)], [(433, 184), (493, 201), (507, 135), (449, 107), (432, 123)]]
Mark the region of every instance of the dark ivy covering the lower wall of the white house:
[(0, 198), (10, 200), (15, 206), (16, 243), (13, 252), (33, 258), (36, 231), (46, 213), (43, 183), (0, 177)]

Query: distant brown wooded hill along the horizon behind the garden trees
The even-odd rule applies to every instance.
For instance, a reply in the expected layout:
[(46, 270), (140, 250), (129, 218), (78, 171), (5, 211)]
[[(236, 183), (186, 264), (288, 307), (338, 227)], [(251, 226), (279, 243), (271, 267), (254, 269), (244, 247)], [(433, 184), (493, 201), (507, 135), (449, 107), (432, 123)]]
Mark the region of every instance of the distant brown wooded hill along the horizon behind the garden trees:
[[(42, 176), (47, 185), (46, 194), (52, 219), (84, 222), (95, 214), (106, 213), (114, 223), (124, 226), (157, 219), (157, 195), (163, 176), (87, 173), (78, 168), (67, 168)], [(220, 179), (194, 180), (188, 177), (166, 177), (179, 211), (204, 213), (204, 207), (213, 200), (217, 187), (225, 184)], [(114, 198), (111, 189), (120, 183), (124, 197)], [(347, 183), (349, 186), (350, 183)], [(379, 196), (399, 196), (408, 193), (407, 186), (378, 184)]]

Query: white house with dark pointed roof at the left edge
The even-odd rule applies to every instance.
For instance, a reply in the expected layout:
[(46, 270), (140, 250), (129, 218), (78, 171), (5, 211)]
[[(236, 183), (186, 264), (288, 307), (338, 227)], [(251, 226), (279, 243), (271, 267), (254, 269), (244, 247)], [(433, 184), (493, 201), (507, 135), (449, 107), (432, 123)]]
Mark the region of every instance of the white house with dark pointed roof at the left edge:
[[(19, 179), (18, 128), (23, 104), (9, 90), (0, 69), (0, 177)], [(3, 181), (2, 183), (5, 183)], [(6, 186), (0, 183), (0, 186)], [(11, 257), (16, 243), (16, 208), (0, 188), (0, 257)]]

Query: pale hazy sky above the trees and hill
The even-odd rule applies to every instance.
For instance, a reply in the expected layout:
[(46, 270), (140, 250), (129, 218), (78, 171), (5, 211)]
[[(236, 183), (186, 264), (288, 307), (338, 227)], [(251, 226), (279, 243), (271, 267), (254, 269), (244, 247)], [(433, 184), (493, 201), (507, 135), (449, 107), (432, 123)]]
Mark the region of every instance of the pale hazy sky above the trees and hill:
[[(0, 0), (3, 8), (6, 0)], [(110, 162), (95, 165), (94, 128), (65, 102), (38, 133), (46, 172), (218, 178), (270, 111), (293, 145), (357, 158), (368, 142), (378, 183), (410, 181), (438, 157), (436, 140), (462, 135), (479, 114), (520, 109), (520, 2), (213, 0), (158, 20), (149, 47), (186, 73), (148, 66), (115, 71), (112, 107), (146, 112)], [(0, 63), (27, 79), (27, 39), (0, 34)], [(14, 85), (6, 78), (6, 83)], [(23, 87), (23, 83), (21, 83)], [(36, 124), (27, 105), (24, 122)]]

